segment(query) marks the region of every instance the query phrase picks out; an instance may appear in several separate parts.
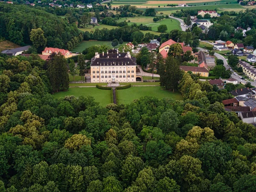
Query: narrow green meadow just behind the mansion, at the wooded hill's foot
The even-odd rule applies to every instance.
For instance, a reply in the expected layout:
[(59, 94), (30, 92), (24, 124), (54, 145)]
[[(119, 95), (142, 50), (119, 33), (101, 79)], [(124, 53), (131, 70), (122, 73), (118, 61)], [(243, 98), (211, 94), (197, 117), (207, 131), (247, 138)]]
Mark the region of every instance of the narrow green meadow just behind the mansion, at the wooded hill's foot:
[[(123, 44), (121, 45), (125, 45), (128, 42), (123, 42)], [(80, 44), (78, 44), (73, 50), (72, 52), (82, 52), (84, 49), (88, 48), (88, 47), (92, 47), (93, 45), (107, 45), (111, 48), (111, 41), (82, 41)], [(120, 44), (117, 46), (119, 47)]]

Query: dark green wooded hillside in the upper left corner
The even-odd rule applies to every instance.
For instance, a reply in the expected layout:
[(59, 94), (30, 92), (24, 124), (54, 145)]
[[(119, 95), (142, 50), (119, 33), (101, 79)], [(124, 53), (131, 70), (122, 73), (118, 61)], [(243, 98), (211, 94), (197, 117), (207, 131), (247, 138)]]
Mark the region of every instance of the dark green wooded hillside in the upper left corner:
[(0, 37), (15, 44), (32, 44), (30, 32), (41, 28), (47, 39), (47, 47), (74, 47), (82, 38), (76, 23), (69, 24), (56, 15), (25, 5), (0, 3)]

